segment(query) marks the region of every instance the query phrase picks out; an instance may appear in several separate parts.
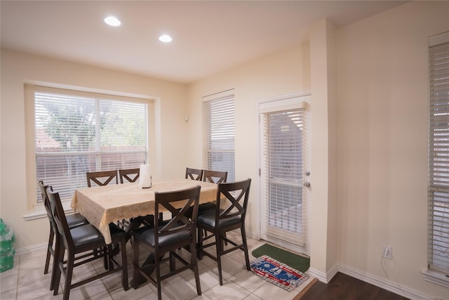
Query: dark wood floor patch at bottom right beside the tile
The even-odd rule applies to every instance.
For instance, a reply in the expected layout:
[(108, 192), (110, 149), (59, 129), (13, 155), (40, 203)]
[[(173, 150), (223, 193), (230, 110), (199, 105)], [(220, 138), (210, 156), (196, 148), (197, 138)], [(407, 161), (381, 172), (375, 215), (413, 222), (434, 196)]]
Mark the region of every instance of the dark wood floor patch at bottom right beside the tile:
[(337, 273), (326, 285), (316, 284), (302, 296), (301, 300), (408, 300), (375, 285)]

